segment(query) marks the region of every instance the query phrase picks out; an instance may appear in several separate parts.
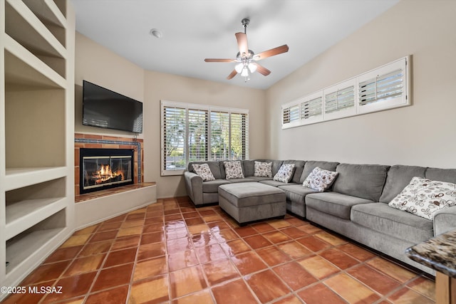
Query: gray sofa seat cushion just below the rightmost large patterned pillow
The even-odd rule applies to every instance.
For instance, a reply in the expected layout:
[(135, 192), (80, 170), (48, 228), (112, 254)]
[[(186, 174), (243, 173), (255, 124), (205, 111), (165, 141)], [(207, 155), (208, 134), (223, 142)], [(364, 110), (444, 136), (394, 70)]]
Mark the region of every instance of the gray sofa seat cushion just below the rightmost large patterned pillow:
[(372, 203), (353, 206), (351, 221), (398, 239), (420, 243), (432, 238), (432, 221), (391, 208), (388, 204)]

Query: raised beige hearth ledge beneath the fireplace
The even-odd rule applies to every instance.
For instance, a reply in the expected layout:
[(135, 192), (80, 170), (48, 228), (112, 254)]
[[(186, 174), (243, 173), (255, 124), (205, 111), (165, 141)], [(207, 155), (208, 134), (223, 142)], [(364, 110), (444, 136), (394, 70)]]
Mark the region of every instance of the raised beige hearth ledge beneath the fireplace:
[(157, 202), (155, 182), (118, 187), (111, 194), (105, 192), (90, 199), (84, 197), (84, 200), (75, 204), (75, 227), (76, 230), (83, 229), (155, 202)]

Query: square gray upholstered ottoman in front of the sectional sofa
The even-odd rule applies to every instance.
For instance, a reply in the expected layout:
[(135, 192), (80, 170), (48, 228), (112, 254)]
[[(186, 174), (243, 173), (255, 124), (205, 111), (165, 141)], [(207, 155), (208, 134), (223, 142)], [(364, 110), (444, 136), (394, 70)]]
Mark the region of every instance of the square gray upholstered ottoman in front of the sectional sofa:
[(277, 187), (259, 182), (219, 186), (219, 206), (239, 224), (286, 214), (286, 194)]

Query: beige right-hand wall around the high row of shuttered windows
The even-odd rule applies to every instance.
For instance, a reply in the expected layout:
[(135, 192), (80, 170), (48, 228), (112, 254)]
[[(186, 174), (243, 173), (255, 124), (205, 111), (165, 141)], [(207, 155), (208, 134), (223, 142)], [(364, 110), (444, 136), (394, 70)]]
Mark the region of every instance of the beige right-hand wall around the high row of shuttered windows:
[[(269, 157), (456, 167), (456, 1), (403, 0), (266, 91)], [(281, 104), (412, 55), (413, 105), (281, 130)]]

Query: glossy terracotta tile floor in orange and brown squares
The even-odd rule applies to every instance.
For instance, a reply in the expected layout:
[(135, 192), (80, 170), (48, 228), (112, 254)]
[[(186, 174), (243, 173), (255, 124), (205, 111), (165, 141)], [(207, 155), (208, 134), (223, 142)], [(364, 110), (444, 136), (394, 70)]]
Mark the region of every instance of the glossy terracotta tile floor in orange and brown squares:
[(187, 198), (76, 231), (4, 303), (435, 303), (434, 281), (294, 216), (239, 227)]

